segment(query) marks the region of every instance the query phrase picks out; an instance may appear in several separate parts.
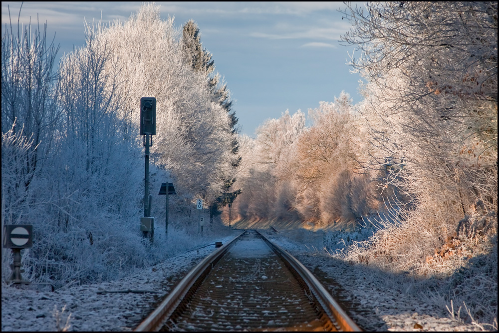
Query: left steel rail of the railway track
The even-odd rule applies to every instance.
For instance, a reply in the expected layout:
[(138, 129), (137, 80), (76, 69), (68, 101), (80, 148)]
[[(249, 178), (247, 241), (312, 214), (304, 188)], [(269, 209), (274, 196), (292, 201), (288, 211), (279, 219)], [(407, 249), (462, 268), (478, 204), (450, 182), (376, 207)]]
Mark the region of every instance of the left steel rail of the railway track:
[(229, 243), (223, 245), (211, 255), (203, 259), (194, 269), (186, 275), (175, 289), (161, 302), (135, 330), (134, 332), (157, 332), (170, 315), (175, 311), (179, 303), (184, 299), (189, 290), (195, 286), (202, 275), (209, 273), (213, 265), (222, 258), (225, 253), (236, 243), (236, 241), (246, 233), (246, 230)]

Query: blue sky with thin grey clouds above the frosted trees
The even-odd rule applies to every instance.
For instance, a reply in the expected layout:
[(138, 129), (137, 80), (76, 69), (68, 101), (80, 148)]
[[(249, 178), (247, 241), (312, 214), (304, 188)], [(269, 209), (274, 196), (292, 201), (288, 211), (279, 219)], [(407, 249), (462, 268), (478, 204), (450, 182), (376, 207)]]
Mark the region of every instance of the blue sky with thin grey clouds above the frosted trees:
[[(82, 46), (86, 19), (112, 22), (126, 20), (143, 2), (38, 2), (22, 5), (21, 23), (47, 23), (48, 36), (60, 44), (60, 55)], [(235, 99), (234, 110), (242, 133), (254, 136), (255, 129), (282, 112), (291, 114), (333, 101), (342, 90), (354, 103), (360, 76), (346, 64), (353, 47), (342, 46), (340, 35), (350, 28), (337, 11), (342, 2), (165, 2), (163, 18), (173, 16), (177, 27), (194, 19), (203, 46), (213, 53), (216, 70)], [(2, 1), (2, 35), (13, 21), (20, 1)]]

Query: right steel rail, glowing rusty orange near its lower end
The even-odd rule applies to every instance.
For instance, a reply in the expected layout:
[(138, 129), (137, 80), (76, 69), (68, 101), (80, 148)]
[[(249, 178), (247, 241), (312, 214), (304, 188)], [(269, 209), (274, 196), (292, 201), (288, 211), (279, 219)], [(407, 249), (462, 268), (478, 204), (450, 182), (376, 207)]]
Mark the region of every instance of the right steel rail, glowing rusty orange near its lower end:
[(296, 273), (303, 279), (310, 291), (314, 294), (317, 301), (322, 306), (323, 310), (326, 312), (327, 316), (333, 323), (338, 327), (339, 331), (344, 332), (362, 332), (362, 330), (348, 317), (348, 315), (341, 309), (339, 304), (332, 298), (332, 296), (326, 291), (322, 284), (315, 278), (315, 276), (310, 273), (310, 271), (303, 266), (296, 258), (290, 255), (287, 251), (279, 247), (278, 245), (272, 243), (264, 235), (256, 231), (260, 237), (273, 249), (284, 262), (289, 263), (296, 271)]

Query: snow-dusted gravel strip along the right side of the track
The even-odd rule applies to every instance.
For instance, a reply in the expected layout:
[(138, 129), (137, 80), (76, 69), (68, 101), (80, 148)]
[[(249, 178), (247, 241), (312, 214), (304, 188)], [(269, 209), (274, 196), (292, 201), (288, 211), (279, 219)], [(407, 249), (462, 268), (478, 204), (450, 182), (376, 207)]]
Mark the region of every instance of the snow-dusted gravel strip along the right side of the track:
[[(279, 234), (288, 234), (280, 232)], [(436, 307), (431, 300), (418, 297), (410, 290), (404, 277), (388, 276), (369, 268), (331, 258), (327, 253), (302, 245), (303, 235), (292, 233), (290, 238), (266, 233), (307, 267), (354, 322), (365, 331), (483, 331), (482, 327), (452, 320), (447, 310)], [(306, 243), (320, 243), (309, 234)], [(294, 239), (299, 239), (297, 243)], [(407, 279), (405, 279), (407, 280)], [(402, 288), (400, 288), (402, 287)], [(413, 288), (418, 284), (414, 283)]]

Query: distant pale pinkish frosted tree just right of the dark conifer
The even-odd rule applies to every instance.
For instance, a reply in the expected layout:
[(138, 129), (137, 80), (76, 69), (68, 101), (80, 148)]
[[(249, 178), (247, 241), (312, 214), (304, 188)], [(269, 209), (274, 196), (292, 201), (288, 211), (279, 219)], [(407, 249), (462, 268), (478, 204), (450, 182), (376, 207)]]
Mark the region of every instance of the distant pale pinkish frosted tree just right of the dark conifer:
[(236, 208), (243, 218), (298, 219), (294, 173), (296, 144), (304, 127), (301, 111), (286, 111), (258, 127), (254, 141), (244, 140), (242, 173), (236, 182), (242, 188)]

